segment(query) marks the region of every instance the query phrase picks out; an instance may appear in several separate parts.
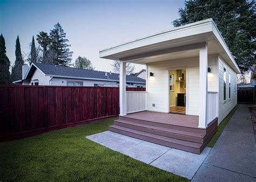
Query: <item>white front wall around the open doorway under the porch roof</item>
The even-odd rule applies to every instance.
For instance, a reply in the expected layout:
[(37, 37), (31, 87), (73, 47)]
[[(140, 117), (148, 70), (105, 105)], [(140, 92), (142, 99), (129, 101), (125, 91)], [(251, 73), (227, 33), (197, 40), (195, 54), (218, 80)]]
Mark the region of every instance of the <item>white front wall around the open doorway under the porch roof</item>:
[[(215, 92), (218, 91), (216, 58), (216, 55), (208, 56), (208, 67), (211, 68), (211, 73), (208, 73), (208, 90)], [(147, 110), (169, 113), (169, 71), (184, 68), (187, 71), (187, 114), (199, 115), (199, 57), (147, 64)], [(150, 72), (154, 75), (149, 76)]]

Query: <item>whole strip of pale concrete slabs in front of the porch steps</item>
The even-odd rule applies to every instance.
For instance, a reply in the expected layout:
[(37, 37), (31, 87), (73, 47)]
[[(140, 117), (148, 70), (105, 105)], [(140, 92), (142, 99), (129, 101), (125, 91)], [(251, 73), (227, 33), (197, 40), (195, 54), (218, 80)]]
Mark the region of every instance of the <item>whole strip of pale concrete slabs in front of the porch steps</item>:
[(86, 138), (131, 158), (190, 180), (211, 150), (211, 148), (206, 147), (200, 155), (197, 155), (112, 131), (86, 136)]

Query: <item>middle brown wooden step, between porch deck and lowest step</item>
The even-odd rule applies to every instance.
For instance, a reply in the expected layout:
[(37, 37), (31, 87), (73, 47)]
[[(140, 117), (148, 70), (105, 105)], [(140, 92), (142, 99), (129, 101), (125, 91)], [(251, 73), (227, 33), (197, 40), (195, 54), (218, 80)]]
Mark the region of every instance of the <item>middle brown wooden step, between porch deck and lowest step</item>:
[(120, 119), (115, 120), (115, 122), (134, 125), (134, 126), (137, 126), (137, 127), (143, 127), (143, 128), (147, 128), (147, 129), (151, 129), (151, 130), (165, 131), (165, 132), (169, 132), (169, 133), (177, 134), (177, 135), (192, 136), (192, 137), (197, 137), (197, 138), (204, 138), (206, 136), (205, 134), (200, 134), (200, 133), (196, 133), (196, 132), (157, 127), (157, 126), (154, 126), (154, 125), (148, 125), (148, 124), (132, 122), (132, 121), (124, 121), (124, 120), (120, 120)]

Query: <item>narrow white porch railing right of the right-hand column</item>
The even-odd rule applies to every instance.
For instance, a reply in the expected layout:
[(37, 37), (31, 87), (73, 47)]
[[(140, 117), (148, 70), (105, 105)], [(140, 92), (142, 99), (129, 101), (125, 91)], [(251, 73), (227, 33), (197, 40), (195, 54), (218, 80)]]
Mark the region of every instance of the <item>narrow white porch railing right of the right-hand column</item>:
[(208, 92), (206, 118), (207, 124), (211, 123), (218, 116), (218, 92)]

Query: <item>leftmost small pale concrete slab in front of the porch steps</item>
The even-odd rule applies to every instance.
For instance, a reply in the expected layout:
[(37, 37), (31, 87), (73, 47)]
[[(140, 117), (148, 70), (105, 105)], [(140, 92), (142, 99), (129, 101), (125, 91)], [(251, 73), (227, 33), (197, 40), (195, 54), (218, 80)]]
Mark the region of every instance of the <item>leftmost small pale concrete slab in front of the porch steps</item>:
[(104, 132), (100, 132), (99, 134), (86, 136), (86, 138), (88, 138), (91, 141), (96, 142), (96, 143), (102, 143), (102, 142), (109, 141), (110, 139), (117, 138), (120, 136), (122, 136), (122, 135), (117, 134), (116, 132), (104, 131)]

